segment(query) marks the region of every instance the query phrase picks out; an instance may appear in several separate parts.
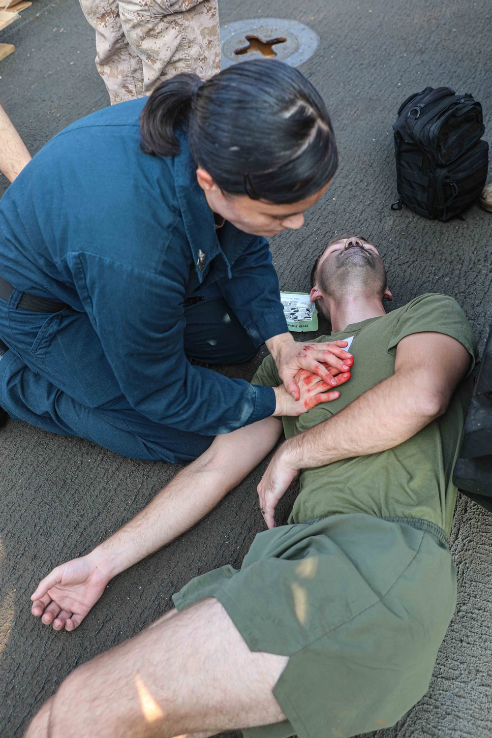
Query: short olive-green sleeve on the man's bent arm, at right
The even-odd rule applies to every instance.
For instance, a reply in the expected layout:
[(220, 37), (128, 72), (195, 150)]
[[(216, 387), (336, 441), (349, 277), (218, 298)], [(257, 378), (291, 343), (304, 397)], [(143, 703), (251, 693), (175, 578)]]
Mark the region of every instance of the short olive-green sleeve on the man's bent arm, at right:
[(477, 341), (468, 318), (453, 297), (446, 294), (423, 294), (412, 300), (395, 325), (388, 351), (395, 348), (406, 336), (427, 332), (443, 333), (459, 341), (472, 359), (466, 376), (473, 371), (479, 361)]

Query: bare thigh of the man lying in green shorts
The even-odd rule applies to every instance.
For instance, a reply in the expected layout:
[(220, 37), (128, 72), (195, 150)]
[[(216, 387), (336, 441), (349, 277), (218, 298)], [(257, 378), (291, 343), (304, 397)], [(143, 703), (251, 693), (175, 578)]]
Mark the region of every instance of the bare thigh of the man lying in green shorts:
[(75, 669), (52, 698), (47, 732), (41, 711), (26, 738), (171, 738), (280, 723), (272, 690), (287, 662), (251, 652), (224, 607), (206, 599)]

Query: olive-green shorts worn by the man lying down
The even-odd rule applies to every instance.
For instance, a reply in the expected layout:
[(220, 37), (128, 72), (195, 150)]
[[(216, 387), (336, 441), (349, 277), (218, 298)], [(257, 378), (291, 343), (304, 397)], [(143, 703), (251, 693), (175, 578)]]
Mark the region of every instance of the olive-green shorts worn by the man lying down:
[(446, 534), (426, 520), (364, 513), (257, 535), (174, 595), (224, 606), (252, 651), (289, 656), (274, 687), (287, 722), (251, 738), (349, 737), (394, 725), (429, 688), (456, 606)]

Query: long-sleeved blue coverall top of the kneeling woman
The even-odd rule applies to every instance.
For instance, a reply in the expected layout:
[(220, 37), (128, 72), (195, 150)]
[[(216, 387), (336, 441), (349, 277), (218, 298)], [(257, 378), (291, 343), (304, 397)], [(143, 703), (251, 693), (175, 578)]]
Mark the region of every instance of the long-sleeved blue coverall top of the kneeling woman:
[(141, 151), (144, 104), (91, 114), (36, 154), (0, 202), (0, 275), (73, 308), (47, 316), (41, 340), (83, 368), (88, 407), (123, 395), (168, 427), (224, 433), (271, 415), (274, 392), (190, 365), (184, 300), (215, 282), (259, 346), (288, 330), (278, 278), (265, 238), (215, 230), (186, 134), (178, 156)]

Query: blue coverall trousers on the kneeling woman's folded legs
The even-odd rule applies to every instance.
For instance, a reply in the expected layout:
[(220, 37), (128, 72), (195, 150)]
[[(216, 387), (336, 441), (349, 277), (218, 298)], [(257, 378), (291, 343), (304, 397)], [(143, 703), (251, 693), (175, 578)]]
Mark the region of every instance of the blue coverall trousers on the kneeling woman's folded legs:
[[(77, 400), (85, 375), (81, 378), (79, 371), (77, 376), (77, 367), (67, 365), (60, 342), (51, 342), (43, 353), (38, 336), (49, 316), (36, 314), (40, 326), (36, 330), (30, 315), (30, 328), (24, 329), (27, 311), (15, 307), (20, 294), (14, 290), (8, 303), (0, 298), (0, 338), (10, 348), (0, 360), (0, 406), (11, 418), (54, 433), (88, 438), (123, 456), (149, 461), (192, 461), (209, 447), (213, 436), (149, 420), (124, 397), (111, 407), (86, 407)], [(252, 359), (257, 348), (218, 288), (212, 284), (195, 296), (204, 299), (184, 308), (187, 356), (217, 365)], [(101, 381), (104, 359), (94, 356), (93, 372), (90, 345), (80, 345), (80, 362), (86, 382)], [(57, 382), (57, 376), (63, 376), (63, 382)]]

